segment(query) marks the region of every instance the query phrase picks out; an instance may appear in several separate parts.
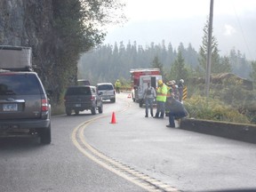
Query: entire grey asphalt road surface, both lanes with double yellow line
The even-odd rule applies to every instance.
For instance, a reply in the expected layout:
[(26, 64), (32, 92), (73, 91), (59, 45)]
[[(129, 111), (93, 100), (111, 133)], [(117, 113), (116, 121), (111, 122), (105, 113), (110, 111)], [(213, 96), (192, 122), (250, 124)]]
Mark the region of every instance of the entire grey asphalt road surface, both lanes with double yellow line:
[(256, 189), (255, 144), (144, 116), (121, 93), (104, 102), (102, 115), (52, 116), (51, 145), (1, 139), (0, 192)]

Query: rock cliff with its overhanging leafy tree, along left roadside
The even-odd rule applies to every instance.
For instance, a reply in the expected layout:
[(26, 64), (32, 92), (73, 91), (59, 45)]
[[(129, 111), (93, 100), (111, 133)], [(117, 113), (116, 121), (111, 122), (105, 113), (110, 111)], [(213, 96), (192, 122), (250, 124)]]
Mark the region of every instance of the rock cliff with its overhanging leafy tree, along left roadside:
[(112, 14), (124, 4), (116, 0), (2, 0), (0, 44), (29, 46), (35, 71), (60, 103), (69, 84), (76, 84), (80, 54), (100, 44), (100, 28), (123, 20)]

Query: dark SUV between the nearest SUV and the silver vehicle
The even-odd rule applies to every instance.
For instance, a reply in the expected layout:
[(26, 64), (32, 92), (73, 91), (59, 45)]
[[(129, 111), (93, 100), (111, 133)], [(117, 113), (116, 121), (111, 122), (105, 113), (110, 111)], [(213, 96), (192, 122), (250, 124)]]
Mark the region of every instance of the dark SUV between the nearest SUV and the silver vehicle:
[(76, 115), (79, 111), (91, 110), (92, 115), (103, 112), (103, 104), (100, 95), (96, 92), (96, 87), (91, 85), (80, 85), (68, 87), (64, 103), (68, 116), (72, 114), (72, 110)]

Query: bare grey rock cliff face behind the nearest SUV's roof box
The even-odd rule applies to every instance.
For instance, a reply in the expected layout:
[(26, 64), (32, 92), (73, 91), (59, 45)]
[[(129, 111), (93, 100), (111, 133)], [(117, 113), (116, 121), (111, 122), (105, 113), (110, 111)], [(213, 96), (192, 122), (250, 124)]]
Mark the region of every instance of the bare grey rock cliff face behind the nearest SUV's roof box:
[(60, 81), (53, 70), (58, 36), (52, 28), (52, 18), (52, 0), (0, 1), (0, 44), (32, 47), (32, 64), (44, 87), (58, 92)]

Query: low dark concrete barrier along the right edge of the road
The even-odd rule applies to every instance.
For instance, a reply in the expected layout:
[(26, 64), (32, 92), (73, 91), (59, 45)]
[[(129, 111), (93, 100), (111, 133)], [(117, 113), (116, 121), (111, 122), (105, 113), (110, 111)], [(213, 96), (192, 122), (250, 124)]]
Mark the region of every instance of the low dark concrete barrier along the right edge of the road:
[(180, 129), (256, 143), (255, 124), (235, 124), (186, 118), (181, 120)]

